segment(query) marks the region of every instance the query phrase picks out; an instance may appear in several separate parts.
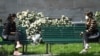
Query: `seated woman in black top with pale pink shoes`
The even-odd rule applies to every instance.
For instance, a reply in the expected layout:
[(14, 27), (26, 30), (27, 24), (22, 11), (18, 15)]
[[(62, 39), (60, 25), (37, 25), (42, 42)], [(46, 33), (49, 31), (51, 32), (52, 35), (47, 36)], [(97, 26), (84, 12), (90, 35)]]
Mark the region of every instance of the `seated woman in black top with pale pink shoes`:
[(9, 41), (14, 41), (16, 43), (15, 51), (13, 55), (21, 55), (18, 51), (18, 48), (22, 47), (19, 41), (19, 32), (16, 30), (16, 23), (15, 23), (16, 14), (10, 14), (7, 18), (6, 23), (4, 24), (3, 29), (3, 38), (6, 38)]

